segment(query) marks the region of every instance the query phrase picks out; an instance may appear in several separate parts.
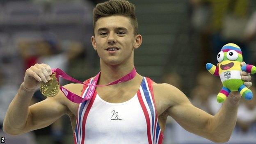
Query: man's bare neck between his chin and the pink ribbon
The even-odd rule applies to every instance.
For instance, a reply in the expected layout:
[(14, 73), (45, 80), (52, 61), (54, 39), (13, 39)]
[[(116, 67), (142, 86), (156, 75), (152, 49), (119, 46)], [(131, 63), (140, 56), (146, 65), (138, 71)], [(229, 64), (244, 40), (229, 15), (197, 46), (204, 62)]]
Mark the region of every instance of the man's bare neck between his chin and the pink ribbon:
[(130, 73), (134, 68), (132, 64), (107, 65), (101, 64), (101, 75), (97, 85), (107, 85)]

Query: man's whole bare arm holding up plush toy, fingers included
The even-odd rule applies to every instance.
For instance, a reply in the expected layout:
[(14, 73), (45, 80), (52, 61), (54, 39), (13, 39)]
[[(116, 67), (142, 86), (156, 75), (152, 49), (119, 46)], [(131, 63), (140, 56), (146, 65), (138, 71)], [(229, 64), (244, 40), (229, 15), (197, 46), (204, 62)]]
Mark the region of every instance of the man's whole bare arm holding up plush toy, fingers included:
[[(242, 79), (251, 80), (249, 73), (242, 72)], [(251, 82), (244, 83), (250, 87)], [(162, 105), (169, 105), (167, 112), (173, 117), (183, 128), (191, 133), (205, 137), (213, 142), (227, 142), (235, 127), (238, 103), (240, 94), (231, 92), (221, 109), (215, 116), (194, 107), (188, 98), (174, 86), (168, 84), (160, 84), (161, 91), (158, 95), (163, 96), (165, 101)], [(161, 94), (160, 94), (161, 93)]]

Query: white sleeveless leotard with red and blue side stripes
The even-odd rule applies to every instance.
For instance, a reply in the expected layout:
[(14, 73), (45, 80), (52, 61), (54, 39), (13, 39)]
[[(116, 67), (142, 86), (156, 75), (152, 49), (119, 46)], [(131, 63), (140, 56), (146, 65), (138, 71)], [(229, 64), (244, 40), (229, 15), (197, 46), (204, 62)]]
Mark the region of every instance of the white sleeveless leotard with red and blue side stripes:
[[(79, 104), (74, 143), (162, 144), (164, 135), (158, 124), (152, 82), (143, 77), (135, 96), (123, 103), (108, 103), (95, 91), (90, 100)], [(85, 85), (82, 97), (87, 89)]]

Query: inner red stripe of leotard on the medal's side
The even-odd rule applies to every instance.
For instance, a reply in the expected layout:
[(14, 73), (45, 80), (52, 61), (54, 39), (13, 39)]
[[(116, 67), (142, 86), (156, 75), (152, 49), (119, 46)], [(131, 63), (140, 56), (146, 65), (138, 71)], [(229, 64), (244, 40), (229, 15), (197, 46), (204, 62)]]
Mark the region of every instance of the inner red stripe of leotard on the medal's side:
[(94, 91), (94, 95), (92, 96), (86, 110), (85, 110), (85, 114), (84, 114), (84, 117), (83, 117), (83, 121), (82, 121), (82, 132), (83, 132), (83, 135), (82, 135), (82, 141), (81, 141), (81, 144), (84, 144), (85, 143), (85, 123), (86, 123), (86, 120), (87, 120), (87, 117), (88, 117), (88, 114), (89, 114), (89, 111), (91, 109), (91, 106), (92, 104), (94, 103), (94, 100), (96, 98), (96, 91)]

